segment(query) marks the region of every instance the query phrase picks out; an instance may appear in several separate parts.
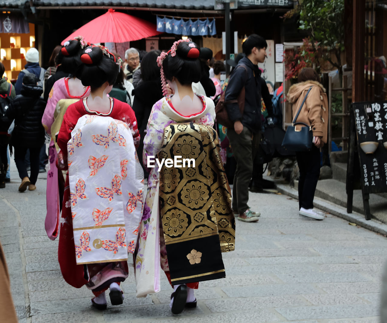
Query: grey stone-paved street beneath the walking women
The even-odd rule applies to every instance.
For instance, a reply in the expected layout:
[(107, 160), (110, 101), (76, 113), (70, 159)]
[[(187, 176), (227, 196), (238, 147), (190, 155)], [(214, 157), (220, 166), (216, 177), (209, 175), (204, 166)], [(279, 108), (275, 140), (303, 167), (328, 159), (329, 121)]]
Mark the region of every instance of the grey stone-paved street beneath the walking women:
[(379, 322), (387, 239), (330, 214), (302, 218), (295, 199), (270, 193), (250, 193), (259, 223), (237, 221), (235, 252), (223, 254), (227, 277), (200, 283), (196, 309), (171, 314), (164, 275), (161, 292), (137, 299), (132, 271), (123, 305), (93, 309), (86, 287), (63, 280), (58, 241), (46, 236), (46, 173), (36, 191), (19, 193), (11, 167), (12, 183), (0, 190), (0, 240), (20, 322)]

